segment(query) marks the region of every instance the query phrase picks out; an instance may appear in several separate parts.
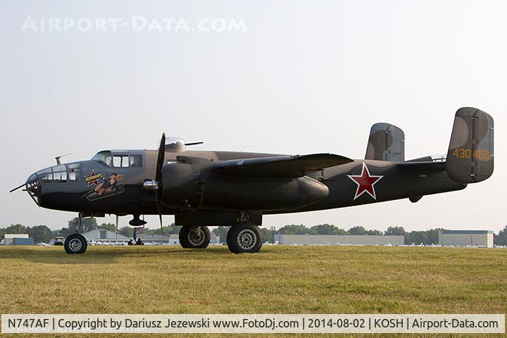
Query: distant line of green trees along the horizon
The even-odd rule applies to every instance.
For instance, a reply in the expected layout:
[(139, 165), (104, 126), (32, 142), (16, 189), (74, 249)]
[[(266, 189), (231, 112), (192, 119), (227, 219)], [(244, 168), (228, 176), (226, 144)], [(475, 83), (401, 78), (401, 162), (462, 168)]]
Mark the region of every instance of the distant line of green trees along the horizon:
[[(52, 231), (46, 225), (36, 225), (35, 227), (25, 227), (25, 225), (13, 224), (8, 227), (0, 228), (0, 239), (4, 238), (4, 234), (28, 234), (34, 239), (35, 243), (44, 242), (48, 243), (56, 236), (67, 237), (69, 234), (76, 232), (79, 225), (78, 218), (73, 218), (68, 221), (66, 227), (62, 227), (59, 230)], [(97, 223), (96, 218), (84, 218), (82, 220), (82, 232), (88, 232), (96, 229), (106, 229), (115, 232), (115, 225), (113, 223)], [(227, 231), (229, 227), (215, 227), (213, 233), (220, 236), (220, 241), (225, 242), (227, 238)], [(403, 227), (388, 227), (386, 231), (380, 230), (366, 230), (364, 227), (356, 226), (351, 227), (349, 230), (344, 230), (340, 227), (336, 227), (331, 224), (320, 224), (314, 225), (313, 227), (306, 227), (306, 225), (284, 225), (280, 229), (276, 230), (275, 227), (261, 227), (263, 234), (263, 241), (275, 242), (275, 234), (359, 234), (359, 235), (398, 235), (405, 236), (406, 244), (438, 244), (438, 237), (441, 228), (423, 230), (423, 231), (411, 231), (406, 232)], [(160, 228), (144, 228), (144, 234), (161, 234)], [(180, 227), (175, 226), (174, 223), (163, 227), (163, 234), (178, 234)], [(134, 236), (133, 227), (121, 227), (118, 229), (119, 234), (123, 234), (126, 237)], [(507, 225), (498, 234), (494, 235), (494, 243), (496, 245), (507, 245)]]

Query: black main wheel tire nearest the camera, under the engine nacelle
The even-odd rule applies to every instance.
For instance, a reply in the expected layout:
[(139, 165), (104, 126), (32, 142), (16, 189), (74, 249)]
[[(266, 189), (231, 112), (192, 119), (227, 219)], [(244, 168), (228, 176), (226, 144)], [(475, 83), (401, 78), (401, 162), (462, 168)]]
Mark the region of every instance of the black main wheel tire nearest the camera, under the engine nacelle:
[(242, 222), (230, 227), (227, 246), (233, 253), (256, 253), (262, 247), (262, 232), (251, 222)]

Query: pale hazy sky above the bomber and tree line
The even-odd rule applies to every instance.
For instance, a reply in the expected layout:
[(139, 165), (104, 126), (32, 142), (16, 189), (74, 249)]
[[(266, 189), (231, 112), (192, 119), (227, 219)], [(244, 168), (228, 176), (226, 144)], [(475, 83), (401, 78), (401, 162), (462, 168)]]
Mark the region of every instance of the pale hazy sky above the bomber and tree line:
[[(84, 20), (51, 32), (40, 24), (50, 18)], [(86, 30), (101, 18), (106, 32)], [(134, 27), (143, 18), (189, 29)], [(243, 29), (192, 31), (216, 18)], [(113, 30), (118, 19), (130, 25)], [(498, 231), (506, 96), (506, 1), (0, 0), (0, 227), (57, 228), (75, 216), (8, 193), (60, 154), (154, 149), (165, 131), (206, 142), (196, 149), (363, 158), (370, 126), (389, 122), (405, 131), (410, 159), (446, 153), (454, 113), (475, 106), (495, 119), (491, 179), (417, 204), (273, 215), (264, 225)]]

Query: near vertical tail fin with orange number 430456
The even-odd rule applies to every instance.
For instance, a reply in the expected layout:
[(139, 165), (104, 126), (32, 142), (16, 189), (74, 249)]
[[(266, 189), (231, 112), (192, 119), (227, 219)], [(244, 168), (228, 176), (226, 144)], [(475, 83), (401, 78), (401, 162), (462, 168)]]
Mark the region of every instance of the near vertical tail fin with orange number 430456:
[(493, 118), (477, 108), (456, 112), (447, 153), (446, 171), (451, 180), (473, 183), (493, 173)]

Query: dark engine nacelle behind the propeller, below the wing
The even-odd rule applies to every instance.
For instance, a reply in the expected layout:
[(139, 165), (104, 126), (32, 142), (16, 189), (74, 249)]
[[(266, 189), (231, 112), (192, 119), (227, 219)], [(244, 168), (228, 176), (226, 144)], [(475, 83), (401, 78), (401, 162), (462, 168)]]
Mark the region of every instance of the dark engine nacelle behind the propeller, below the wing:
[(179, 209), (245, 209), (283, 211), (308, 206), (329, 195), (327, 186), (311, 177), (232, 177), (206, 168), (213, 163), (188, 161), (164, 165), (163, 205)]

